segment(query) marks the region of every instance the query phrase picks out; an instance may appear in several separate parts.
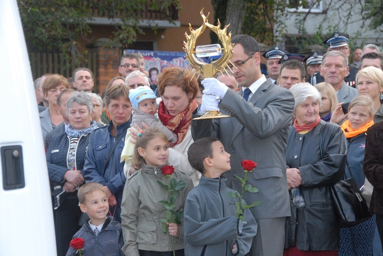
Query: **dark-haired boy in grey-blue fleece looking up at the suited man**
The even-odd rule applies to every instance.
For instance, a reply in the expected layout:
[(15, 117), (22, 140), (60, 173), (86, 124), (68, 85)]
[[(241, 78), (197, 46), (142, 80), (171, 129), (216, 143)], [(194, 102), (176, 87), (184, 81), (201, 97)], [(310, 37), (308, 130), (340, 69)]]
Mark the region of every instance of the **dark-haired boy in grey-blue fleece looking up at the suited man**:
[(222, 174), (231, 169), (230, 154), (213, 137), (190, 145), (188, 160), (202, 173), (200, 183), (186, 197), (184, 210), (185, 252), (197, 255), (246, 255), (249, 253), (257, 223), (249, 209), (245, 221), (235, 216), (235, 199), (227, 196)]

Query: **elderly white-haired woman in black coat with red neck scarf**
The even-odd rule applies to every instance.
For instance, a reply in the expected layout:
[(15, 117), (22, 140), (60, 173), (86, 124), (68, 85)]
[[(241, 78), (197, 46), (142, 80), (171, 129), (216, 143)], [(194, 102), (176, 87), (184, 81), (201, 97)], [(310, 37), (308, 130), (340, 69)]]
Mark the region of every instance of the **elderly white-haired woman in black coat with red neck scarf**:
[[(308, 83), (291, 87), (294, 125), (286, 148), (286, 176), (293, 217), (283, 255), (337, 255), (340, 227), (330, 186), (344, 177), (346, 138), (340, 127), (319, 116), (321, 94)], [(295, 215), (295, 216), (294, 216)]]

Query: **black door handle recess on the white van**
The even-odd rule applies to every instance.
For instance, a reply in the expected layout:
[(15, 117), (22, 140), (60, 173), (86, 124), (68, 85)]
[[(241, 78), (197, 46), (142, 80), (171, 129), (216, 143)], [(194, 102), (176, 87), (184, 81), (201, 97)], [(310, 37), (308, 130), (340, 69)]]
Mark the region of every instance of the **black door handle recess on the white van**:
[(0, 149), (3, 167), (4, 190), (25, 187), (22, 147), (20, 145), (4, 146)]

